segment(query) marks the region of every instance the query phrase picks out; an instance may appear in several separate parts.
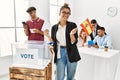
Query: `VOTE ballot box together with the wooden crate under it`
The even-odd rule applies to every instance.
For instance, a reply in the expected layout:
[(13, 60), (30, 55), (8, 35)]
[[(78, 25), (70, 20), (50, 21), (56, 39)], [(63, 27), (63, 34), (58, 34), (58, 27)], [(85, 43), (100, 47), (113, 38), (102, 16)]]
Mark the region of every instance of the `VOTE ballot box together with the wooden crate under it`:
[(42, 41), (12, 44), (13, 64), (10, 80), (52, 80), (49, 45)]

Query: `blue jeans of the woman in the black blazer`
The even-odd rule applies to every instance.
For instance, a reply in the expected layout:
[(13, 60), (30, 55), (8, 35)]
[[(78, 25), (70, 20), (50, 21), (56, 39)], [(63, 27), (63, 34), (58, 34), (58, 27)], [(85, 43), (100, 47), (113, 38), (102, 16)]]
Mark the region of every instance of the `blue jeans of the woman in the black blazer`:
[(56, 80), (64, 80), (65, 68), (67, 68), (67, 80), (73, 80), (76, 72), (77, 62), (70, 62), (66, 48), (60, 48), (61, 58), (56, 62)]

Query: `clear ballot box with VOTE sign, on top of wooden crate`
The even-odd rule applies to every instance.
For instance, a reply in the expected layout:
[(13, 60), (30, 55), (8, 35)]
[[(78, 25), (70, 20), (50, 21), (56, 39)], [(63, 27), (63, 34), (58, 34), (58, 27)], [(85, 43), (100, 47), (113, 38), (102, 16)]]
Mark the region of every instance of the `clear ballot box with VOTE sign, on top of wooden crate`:
[(25, 41), (12, 44), (13, 65), (44, 67), (50, 61), (49, 45), (43, 41)]

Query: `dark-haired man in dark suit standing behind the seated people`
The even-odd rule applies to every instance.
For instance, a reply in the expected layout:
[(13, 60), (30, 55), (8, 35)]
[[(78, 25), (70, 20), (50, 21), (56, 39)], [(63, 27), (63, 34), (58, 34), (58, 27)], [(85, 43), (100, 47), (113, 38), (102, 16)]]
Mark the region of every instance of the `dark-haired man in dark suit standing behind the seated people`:
[(91, 40), (97, 36), (97, 30), (100, 27), (95, 19), (91, 20), (92, 33), (90, 34)]

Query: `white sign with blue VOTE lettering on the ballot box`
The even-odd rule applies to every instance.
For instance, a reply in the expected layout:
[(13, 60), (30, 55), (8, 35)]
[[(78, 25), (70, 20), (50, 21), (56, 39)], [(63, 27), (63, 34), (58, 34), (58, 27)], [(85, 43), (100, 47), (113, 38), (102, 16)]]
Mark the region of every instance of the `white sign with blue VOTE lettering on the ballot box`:
[(18, 64), (37, 64), (38, 49), (17, 48), (16, 54), (13, 56), (14, 63)]

